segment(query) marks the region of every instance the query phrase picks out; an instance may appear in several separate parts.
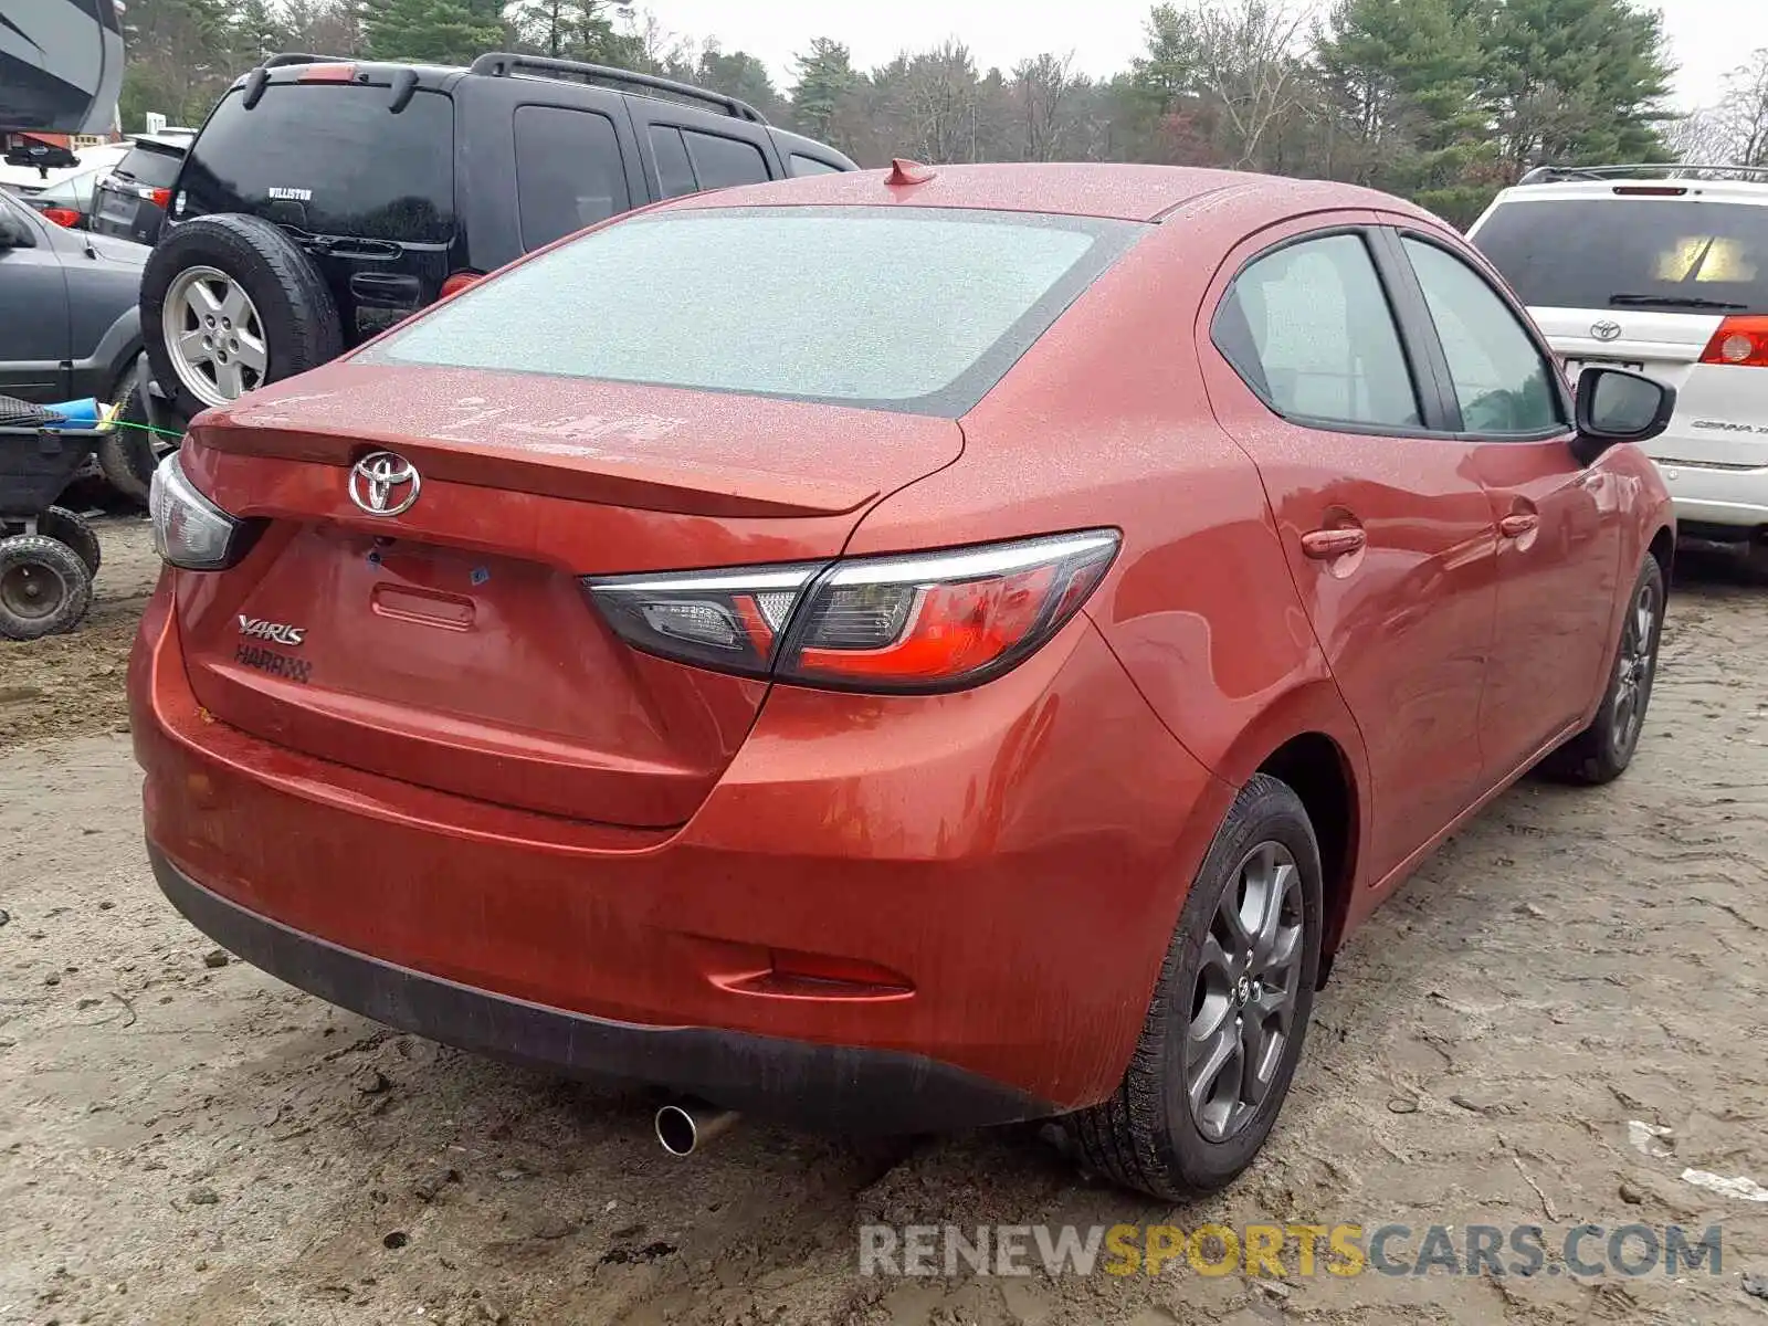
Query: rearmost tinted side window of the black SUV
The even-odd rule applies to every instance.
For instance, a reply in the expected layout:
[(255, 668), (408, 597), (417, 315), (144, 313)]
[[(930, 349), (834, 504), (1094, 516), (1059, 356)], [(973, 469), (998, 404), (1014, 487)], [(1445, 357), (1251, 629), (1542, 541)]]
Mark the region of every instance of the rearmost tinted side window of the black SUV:
[(514, 118), (523, 249), (552, 244), (633, 205), (621, 143), (606, 115), (518, 106)]

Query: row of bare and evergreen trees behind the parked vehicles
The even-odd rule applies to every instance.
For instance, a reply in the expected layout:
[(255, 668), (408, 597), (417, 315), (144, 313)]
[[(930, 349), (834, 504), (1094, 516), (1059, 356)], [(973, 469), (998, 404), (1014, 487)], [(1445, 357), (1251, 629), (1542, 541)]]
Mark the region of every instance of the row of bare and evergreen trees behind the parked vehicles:
[(196, 122), (279, 50), (454, 64), (500, 48), (718, 88), (861, 164), (1326, 175), (1457, 223), (1542, 161), (1768, 161), (1768, 53), (1711, 108), (1674, 117), (1662, 23), (1628, 0), (1177, 0), (1153, 7), (1144, 53), (1107, 80), (1063, 53), (983, 69), (956, 42), (859, 69), (838, 37), (806, 37), (785, 87), (753, 55), (606, 0), (131, 0), (126, 25), (126, 127), (147, 110)]

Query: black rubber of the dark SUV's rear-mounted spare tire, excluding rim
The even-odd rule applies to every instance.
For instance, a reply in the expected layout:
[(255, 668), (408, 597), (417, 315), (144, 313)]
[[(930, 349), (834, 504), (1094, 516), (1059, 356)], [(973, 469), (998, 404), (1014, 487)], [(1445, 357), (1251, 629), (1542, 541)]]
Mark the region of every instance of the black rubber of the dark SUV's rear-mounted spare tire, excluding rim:
[(313, 260), (276, 225), (223, 212), (170, 226), (141, 272), (141, 339), (154, 378), (173, 392), (184, 417), (212, 403), (179, 377), (163, 324), (168, 292), (193, 267), (223, 272), (256, 306), (269, 362), (253, 385), (306, 373), (343, 352), (343, 327), (331, 290)]

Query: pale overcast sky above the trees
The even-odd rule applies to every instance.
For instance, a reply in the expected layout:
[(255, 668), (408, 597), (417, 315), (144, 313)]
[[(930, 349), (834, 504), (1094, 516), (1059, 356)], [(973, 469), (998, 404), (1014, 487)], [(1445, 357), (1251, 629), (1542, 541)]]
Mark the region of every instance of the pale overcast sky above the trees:
[[(925, 50), (946, 37), (965, 42), (976, 64), (1008, 69), (1040, 51), (1073, 51), (1075, 67), (1101, 76), (1142, 51), (1151, 0), (638, 0), (674, 34), (718, 37), (727, 51), (758, 55), (790, 83), (792, 55), (810, 37), (834, 37), (854, 64), (872, 69), (898, 50)], [(1701, 106), (1727, 69), (1768, 46), (1768, 0), (1646, 0), (1664, 11), (1681, 72), (1676, 101)]]

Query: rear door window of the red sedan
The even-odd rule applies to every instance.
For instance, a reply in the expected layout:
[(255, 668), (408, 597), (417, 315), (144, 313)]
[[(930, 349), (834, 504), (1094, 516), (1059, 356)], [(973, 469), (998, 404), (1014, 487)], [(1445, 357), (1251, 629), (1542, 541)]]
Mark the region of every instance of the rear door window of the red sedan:
[(1266, 405), (1333, 424), (1420, 428), (1393, 311), (1358, 235), (1289, 244), (1234, 278), (1215, 343)]

